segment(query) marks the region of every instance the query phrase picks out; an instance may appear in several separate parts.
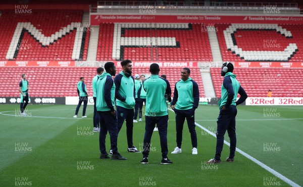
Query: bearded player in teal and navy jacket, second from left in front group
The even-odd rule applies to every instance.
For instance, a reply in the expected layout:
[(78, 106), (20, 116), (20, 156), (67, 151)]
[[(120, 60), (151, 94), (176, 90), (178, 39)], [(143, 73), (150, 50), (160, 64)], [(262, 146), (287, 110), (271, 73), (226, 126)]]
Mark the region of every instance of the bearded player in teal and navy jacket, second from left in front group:
[(132, 62), (128, 59), (121, 62), (123, 70), (115, 76), (116, 106), (118, 117), (118, 134), (126, 121), (127, 151), (141, 153), (133, 146), (133, 118), (135, 107), (135, 80), (131, 76)]

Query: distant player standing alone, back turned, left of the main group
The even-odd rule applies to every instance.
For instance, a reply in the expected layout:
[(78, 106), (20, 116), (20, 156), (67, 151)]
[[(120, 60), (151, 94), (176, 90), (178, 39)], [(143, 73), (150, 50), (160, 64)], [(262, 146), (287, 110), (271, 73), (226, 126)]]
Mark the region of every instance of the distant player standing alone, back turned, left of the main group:
[(86, 85), (84, 83), (84, 77), (80, 77), (80, 81), (77, 84), (77, 92), (78, 92), (78, 96), (79, 96), (79, 102), (78, 102), (78, 106), (76, 108), (74, 118), (77, 117), (82, 102), (84, 103), (82, 118), (86, 118), (85, 112), (86, 112), (86, 106), (87, 106), (87, 101), (88, 101), (88, 94), (87, 94)]

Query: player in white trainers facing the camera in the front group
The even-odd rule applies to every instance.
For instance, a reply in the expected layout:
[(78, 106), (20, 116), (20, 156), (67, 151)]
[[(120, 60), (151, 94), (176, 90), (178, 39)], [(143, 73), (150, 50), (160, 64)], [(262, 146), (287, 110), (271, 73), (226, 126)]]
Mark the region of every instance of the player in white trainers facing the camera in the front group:
[(194, 124), (194, 111), (199, 105), (199, 87), (190, 77), (190, 69), (183, 68), (181, 80), (175, 85), (171, 108), (176, 113), (177, 147), (172, 154), (181, 153), (182, 130), (186, 118), (191, 137), (192, 154), (197, 154), (197, 134)]

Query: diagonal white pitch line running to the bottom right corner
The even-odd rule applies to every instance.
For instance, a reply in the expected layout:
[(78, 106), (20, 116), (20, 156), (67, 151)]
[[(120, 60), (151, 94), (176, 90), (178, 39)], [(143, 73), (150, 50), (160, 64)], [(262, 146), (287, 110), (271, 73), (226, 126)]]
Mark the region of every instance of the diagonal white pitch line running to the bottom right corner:
[[(168, 109), (170, 111), (173, 111), (172, 109)], [(174, 112), (174, 111), (173, 111)], [(238, 121), (238, 120), (237, 120)], [(205, 127), (201, 126), (198, 123), (194, 123), (196, 126), (200, 127), (201, 129), (205, 130), (206, 132), (208, 132), (209, 134), (211, 134), (212, 136), (216, 137), (216, 134), (211, 132), (210, 130), (206, 129)], [(230, 144), (226, 141), (224, 141), (224, 144), (226, 144), (227, 146), (230, 146)], [(269, 166), (263, 164), (262, 162), (260, 162), (259, 160), (255, 159), (254, 157), (248, 155), (247, 153), (241, 151), (240, 149), (236, 148), (236, 151), (239, 152), (241, 155), (243, 155), (244, 157), (248, 158), (249, 160), (251, 160), (252, 162), (255, 162), (256, 164), (258, 164), (259, 166), (261, 166), (262, 168), (266, 169), (267, 171), (269, 171), (270, 173), (272, 173), (273, 175), (275, 175), (276, 177), (280, 178), (281, 180), (283, 180), (284, 182), (288, 183), (291, 186), (296, 186), (299, 187), (300, 185), (298, 185), (297, 183), (295, 183), (294, 181), (288, 179), (286, 176), (282, 175), (281, 173), (275, 171), (274, 169), (270, 168)]]

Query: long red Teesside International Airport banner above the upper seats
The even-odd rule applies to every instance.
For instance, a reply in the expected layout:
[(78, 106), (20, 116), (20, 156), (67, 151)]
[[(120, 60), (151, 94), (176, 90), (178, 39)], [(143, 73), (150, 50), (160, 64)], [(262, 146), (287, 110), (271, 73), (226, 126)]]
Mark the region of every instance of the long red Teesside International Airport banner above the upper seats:
[(260, 24), (303, 24), (298, 16), (206, 16), (206, 15), (100, 15), (90, 14), (90, 25), (100, 23), (260, 23)]

